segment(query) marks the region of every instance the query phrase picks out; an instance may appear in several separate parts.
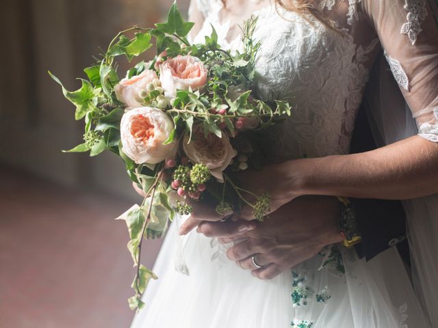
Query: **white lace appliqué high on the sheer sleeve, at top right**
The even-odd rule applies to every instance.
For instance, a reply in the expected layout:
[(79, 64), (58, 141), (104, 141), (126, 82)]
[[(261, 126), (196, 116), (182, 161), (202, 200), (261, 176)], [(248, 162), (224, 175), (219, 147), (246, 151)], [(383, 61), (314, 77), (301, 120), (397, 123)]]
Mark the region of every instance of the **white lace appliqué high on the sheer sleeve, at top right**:
[(417, 36), (423, 31), (421, 25), (426, 19), (426, 1), (425, 0), (405, 0), (404, 9), (408, 11), (407, 23), (404, 23), (400, 33), (407, 34), (411, 44), (417, 42)]

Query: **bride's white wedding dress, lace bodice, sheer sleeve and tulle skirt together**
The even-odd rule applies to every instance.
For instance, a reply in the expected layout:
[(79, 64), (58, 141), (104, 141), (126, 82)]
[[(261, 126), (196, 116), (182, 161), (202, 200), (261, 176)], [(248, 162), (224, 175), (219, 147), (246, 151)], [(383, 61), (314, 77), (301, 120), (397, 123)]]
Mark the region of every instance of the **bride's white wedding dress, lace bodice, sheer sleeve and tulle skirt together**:
[[(433, 23), (425, 14), (426, 1), (320, 3), (342, 33), (313, 16), (305, 19), (274, 5), (253, 13), (258, 16), (255, 38), (262, 42), (256, 91), (262, 98), (288, 99), (296, 105), (292, 118), (272, 133), (272, 160), (348, 153), (357, 109), (381, 45), (417, 113), (420, 135), (438, 141), (438, 110), (433, 113), (437, 94), (420, 90), (424, 85), (417, 75), (426, 79), (428, 72), (413, 64), (418, 57), (409, 53), (418, 55), (420, 45), (429, 42), (422, 32), (423, 25)], [(240, 48), (240, 38), (227, 38), (229, 22), (220, 20), (222, 1), (197, 0), (194, 5), (205, 19), (195, 42), (203, 42), (211, 23), (222, 46)], [(131, 328), (438, 327), (428, 323), (395, 247), (370, 262), (359, 260), (352, 249), (328, 247), (292, 271), (264, 281), (228, 260), (227, 246), (215, 239), (194, 231), (180, 238), (181, 220), (170, 227), (154, 268), (159, 279), (149, 284), (145, 309), (136, 314)]]

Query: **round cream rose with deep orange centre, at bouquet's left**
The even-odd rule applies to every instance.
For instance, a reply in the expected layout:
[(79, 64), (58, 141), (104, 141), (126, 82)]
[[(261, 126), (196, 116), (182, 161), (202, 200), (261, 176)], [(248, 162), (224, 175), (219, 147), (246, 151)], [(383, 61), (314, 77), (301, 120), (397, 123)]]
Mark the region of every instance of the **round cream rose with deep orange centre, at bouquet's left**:
[(173, 122), (164, 111), (153, 107), (129, 109), (120, 122), (123, 152), (137, 164), (157, 164), (175, 157), (177, 143), (164, 145)]

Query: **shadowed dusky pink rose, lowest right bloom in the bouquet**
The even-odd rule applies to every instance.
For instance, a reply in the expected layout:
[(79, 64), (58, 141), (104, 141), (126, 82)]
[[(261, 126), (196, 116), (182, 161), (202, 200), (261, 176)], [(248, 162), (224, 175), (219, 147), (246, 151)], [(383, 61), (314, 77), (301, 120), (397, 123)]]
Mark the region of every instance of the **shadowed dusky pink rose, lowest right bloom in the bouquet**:
[(193, 128), (192, 140), (189, 141), (189, 134), (185, 133), (183, 139), (183, 150), (192, 163), (207, 165), (211, 174), (220, 182), (223, 182), (222, 171), (230, 165), (237, 152), (231, 146), (229, 137), (222, 132), (222, 138), (209, 133), (204, 135), (202, 126), (196, 125)]

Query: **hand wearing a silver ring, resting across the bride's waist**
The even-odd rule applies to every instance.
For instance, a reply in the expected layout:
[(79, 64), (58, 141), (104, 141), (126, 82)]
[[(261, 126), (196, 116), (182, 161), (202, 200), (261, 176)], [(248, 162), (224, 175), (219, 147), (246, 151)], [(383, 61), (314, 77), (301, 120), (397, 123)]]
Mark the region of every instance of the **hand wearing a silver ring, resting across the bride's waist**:
[[(241, 241), (227, 251), (242, 269), (272, 279), (344, 236), (337, 228), (339, 202), (335, 197), (305, 196), (271, 213), (255, 228), (248, 221), (202, 222), (198, 232), (219, 237), (221, 243)], [(255, 222), (253, 222), (255, 223)], [(252, 256), (261, 269), (254, 266)]]

